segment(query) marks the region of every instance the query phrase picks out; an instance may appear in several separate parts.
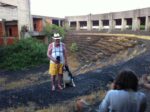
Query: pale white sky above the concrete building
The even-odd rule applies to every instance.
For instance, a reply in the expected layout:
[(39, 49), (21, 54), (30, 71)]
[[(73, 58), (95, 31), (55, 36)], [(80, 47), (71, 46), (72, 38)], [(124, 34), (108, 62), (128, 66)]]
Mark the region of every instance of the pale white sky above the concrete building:
[(30, 2), (32, 15), (60, 18), (150, 7), (150, 0), (30, 0)]

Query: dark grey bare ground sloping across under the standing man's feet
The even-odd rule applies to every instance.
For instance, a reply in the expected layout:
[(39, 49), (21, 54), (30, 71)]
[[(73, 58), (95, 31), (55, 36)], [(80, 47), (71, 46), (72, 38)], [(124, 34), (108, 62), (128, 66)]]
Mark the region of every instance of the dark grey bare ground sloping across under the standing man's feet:
[[(68, 87), (62, 91), (51, 91), (49, 76), (47, 75), (47, 72), (45, 72), (48, 69), (48, 65), (42, 65), (26, 71), (0, 71), (1, 77), (6, 78), (9, 76), (9, 81), (26, 77), (27, 79), (29, 78), (30, 81), (36, 82), (30, 86), (15, 89), (12, 87), (13, 89), (8, 90), (5, 90), (4, 86), (0, 86), (0, 110), (22, 105), (27, 106), (29, 102), (34, 102), (40, 107), (45, 107), (50, 104), (61, 103), (78, 96), (87, 95), (102, 88), (105, 89), (112, 77), (114, 78), (120, 70), (125, 68), (134, 70), (139, 77), (143, 74), (150, 74), (150, 41), (143, 40), (143, 42), (147, 48), (147, 51), (143, 54), (140, 54), (129, 61), (120, 62), (115, 65), (109, 65), (85, 74), (80, 74), (75, 77), (75, 88)], [(43, 79), (40, 79), (40, 77), (37, 79), (30, 78), (33, 74), (43, 74)], [(38, 80), (40, 80), (40, 83)], [(28, 81), (26, 83), (30, 84)], [(150, 112), (150, 91), (143, 88), (141, 88), (140, 91), (143, 91), (147, 95), (148, 107), (146, 112)], [(97, 107), (98, 105), (96, 105), (96, 108)]]

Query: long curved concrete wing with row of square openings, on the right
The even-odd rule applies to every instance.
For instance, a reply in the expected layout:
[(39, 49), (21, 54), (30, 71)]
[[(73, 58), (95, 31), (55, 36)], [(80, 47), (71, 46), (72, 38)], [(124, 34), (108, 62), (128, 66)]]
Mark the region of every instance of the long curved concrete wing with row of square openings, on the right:
[(105, 14), (89, 14), (65, 17), (66, 24), (73, 30), (132, 30), (150, 31), (150, 8)]

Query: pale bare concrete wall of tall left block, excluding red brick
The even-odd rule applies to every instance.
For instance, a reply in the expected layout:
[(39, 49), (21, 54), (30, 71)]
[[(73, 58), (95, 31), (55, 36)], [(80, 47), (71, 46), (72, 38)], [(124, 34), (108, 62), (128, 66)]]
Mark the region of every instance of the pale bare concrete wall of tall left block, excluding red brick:
[[(2, 4), (0, 6), (0, 19), (6, 21), (17, 20), (18, 31), (15, 32), (18, 32), (19, 37), (23, 25), (27, 25), (29, 30), (33, 29), (30, 0), (0, 0), (0, 3)], [(3, 4), (7, 6), (4, 7)]]

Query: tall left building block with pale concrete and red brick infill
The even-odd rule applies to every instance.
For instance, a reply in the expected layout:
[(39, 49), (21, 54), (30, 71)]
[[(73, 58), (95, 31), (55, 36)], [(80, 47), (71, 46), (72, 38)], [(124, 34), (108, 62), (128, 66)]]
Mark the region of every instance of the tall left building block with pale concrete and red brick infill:
[(0, 37), (20, 38), (24, 25), (32, 30), (30, 0), (0, 0)]

